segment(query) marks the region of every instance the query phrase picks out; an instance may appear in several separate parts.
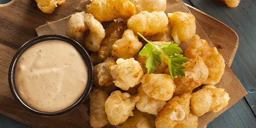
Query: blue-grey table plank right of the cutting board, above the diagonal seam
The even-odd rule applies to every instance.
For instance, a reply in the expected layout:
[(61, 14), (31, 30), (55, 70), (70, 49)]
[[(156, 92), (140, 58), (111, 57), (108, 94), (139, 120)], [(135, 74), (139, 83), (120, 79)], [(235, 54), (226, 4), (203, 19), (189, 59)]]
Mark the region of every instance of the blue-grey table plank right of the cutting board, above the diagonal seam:
[(210, 14), (233, 28), (240, 37), (240, 44), (231, 69), (248, 92), (246, 100), (251, 106), (254, 114), (256, 114), (255, 0), (241, 0), (240, 4), (236, 8), (228, 8), (218, 0), (193, 0), (193, 3), (200, 10)]

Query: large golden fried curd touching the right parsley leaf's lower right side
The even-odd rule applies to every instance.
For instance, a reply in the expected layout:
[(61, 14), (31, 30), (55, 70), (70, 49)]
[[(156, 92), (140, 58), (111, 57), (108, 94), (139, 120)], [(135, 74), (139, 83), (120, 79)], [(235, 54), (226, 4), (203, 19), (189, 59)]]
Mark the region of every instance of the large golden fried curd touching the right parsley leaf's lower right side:
[[(193, 89), (200, 86), (208, 78), (208, 68), (200, 56), (190, 59), (183, 66), (185, 66), (185, 76), (178, 76), (174, 79), (176, 85), (174, 96), (192, 93)], [(170, 74), (169, 68), (165, 70), (165, 73)]]

